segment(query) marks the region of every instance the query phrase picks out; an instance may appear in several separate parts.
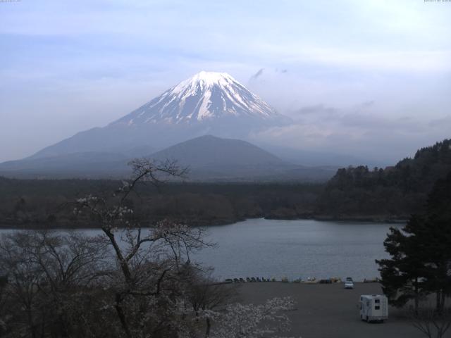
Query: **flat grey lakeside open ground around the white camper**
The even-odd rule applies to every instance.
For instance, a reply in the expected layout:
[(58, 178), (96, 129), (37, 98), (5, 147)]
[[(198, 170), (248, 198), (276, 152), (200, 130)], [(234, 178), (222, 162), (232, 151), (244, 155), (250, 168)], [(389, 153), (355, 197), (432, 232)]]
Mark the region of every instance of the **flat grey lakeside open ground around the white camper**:
[[(354, 289), (343, 283), (297, 284), (255, 282), (241, 284), (238, 289), (243, 303), (264, 303), (273, 297), (291, 296), (295, 311), (289, 313), (292, 330), (288, 337), (302, 338), (421, 338), (402, 311), (390, 307), (385, 323), (365, 323), (359, 318), (361, 294), (381, 294), (378, 283), (354, 282)], [(448, 337), (448, 336), (447, 336)], [(450, 336), (451, 337), (451, 336)]]

